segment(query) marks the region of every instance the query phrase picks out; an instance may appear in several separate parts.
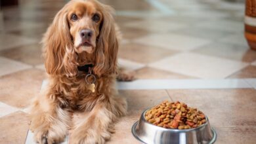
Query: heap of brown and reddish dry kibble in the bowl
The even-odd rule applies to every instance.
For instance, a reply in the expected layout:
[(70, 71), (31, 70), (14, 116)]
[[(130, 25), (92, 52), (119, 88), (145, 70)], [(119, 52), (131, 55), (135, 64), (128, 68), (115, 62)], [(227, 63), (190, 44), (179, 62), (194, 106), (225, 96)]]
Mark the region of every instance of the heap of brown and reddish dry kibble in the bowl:
[(179, 101), (163, 101), (160, 105), (146, 111), (145, 118), (156, 126), (180, 130), (196, 128), (206, 122), (202, 111), (188, 107)]

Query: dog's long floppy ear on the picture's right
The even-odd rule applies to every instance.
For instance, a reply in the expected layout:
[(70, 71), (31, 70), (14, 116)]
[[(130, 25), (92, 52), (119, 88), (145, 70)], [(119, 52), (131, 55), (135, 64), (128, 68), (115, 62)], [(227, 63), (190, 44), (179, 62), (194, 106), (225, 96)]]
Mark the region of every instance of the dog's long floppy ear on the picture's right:
[(117, 51), (118, 41), (115, 30), (115, 22), (112, 16), (114, 10), (102, 5), (102, 23), (96, 44), (96, 65), (94, 72), (99, 77), (117, 73)]

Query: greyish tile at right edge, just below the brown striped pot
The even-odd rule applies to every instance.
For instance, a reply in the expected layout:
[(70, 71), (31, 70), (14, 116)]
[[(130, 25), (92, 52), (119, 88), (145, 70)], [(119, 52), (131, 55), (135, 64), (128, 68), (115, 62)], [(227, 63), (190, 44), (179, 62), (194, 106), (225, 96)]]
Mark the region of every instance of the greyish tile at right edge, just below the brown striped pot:
[(240, 62), (253, 62), (256, 60), (256, 51), (251, 50), (248, 46), (228, 43), (211, 43), (197, 48), (192, 52), (238, 60)]

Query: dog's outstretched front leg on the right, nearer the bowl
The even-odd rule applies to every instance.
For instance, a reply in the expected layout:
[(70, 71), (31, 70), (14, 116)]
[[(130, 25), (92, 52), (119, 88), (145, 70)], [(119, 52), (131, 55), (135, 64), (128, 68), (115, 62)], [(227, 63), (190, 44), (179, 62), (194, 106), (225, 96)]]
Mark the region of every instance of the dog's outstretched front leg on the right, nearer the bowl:
[[(72, 143), (95, 144), (105, 143), (110, 139), (110, 130), (116, 117), (124, 115), (126, 101), (124, 99), (112, 99), (97, 102), (88, 117), (75, 128), (72, 134)], [(119, 103), (117, 103), (119, 102)]]

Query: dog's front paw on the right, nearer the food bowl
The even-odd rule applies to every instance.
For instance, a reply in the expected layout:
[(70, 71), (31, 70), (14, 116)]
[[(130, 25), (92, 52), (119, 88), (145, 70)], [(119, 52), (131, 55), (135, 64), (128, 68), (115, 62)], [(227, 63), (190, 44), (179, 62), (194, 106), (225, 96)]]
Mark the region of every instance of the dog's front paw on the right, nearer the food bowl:
[(92, 128), (84, 130), (75, 130), (72, 134), (72, 143), (74, 144), (101, 144), (110, 139), (111, 134), (108, 130), (98, 132)]

